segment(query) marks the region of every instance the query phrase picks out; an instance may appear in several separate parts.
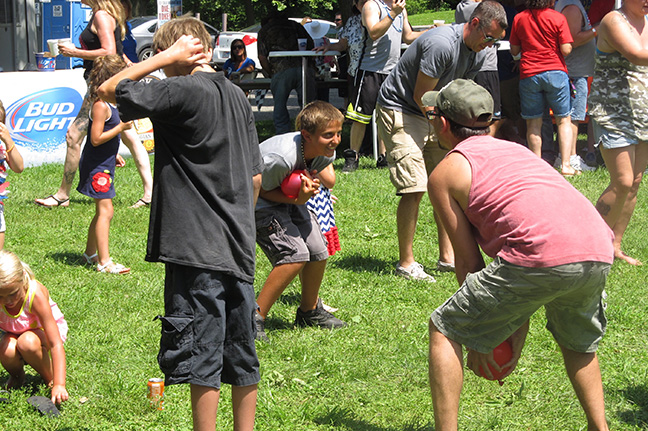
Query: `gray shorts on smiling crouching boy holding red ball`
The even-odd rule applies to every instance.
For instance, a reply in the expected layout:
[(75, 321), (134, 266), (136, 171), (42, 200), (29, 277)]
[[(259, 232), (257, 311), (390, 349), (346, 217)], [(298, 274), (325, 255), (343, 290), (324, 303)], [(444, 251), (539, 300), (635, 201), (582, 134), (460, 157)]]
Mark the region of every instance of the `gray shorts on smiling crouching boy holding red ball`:
[(317, 216), (306, 205), (280, 204), (255, 211), (257, 244), (273, 267), (328, 259)]

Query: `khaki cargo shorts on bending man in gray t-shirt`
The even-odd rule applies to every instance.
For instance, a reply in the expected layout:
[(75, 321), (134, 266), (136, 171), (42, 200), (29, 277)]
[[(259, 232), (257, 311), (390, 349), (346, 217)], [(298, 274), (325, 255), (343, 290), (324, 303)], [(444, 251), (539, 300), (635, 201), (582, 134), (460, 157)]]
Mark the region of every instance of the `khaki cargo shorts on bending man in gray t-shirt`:
[(389, 177), (396, 194), (425, 193), (432, 170), (448, 153), (422, 116), (376, 105), (378, 138), (385, 143)]

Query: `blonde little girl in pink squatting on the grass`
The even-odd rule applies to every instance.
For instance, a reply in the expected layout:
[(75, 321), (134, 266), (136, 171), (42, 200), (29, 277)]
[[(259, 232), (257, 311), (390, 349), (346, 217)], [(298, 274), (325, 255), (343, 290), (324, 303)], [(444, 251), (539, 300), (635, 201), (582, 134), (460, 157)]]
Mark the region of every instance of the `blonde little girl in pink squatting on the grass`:
[(0, 362), (9, 373), (7, 387), (24, 384), (27, 364), (52, 388), (53, 403), (66, 401), (63, 313), (29, 265), (5, 250), (0, 250), (0, 306)]

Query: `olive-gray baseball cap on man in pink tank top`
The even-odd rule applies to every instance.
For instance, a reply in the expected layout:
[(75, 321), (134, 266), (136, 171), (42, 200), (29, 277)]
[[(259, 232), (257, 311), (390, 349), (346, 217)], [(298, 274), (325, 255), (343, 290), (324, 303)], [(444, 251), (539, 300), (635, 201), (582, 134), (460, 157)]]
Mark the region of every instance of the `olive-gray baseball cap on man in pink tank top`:
[(439, 91), (421, 97), (423, 106), (436, 107), (457, 124), (473, 129), (490, 126), (493, 98), (484, 87), (469, 79), (455, 79)]

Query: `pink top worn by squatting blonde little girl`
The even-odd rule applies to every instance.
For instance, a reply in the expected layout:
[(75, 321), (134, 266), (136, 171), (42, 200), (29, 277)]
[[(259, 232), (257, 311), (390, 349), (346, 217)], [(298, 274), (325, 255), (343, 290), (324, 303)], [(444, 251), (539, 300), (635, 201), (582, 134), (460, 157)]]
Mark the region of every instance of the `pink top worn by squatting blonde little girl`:
[[(43, 325), (41, 325), (38, 316), (32, 313), (31, 309), (36, 289), (38, 289), (38, 283), (36, 280), (31, 280), (29, 282), (29, 289), (27, 289), (27, 294), (25, 295), (25, 301), (23, 302), (18, 314), (10, 314), (5, 306), (2, 306), (0, 309), (0, 329), (12, 334), (22, 334), (30, 329), (43, 329)], [(52, 315), (54, 316), (56, 325), (59, 328), (59, 333), (61, 334), (61, 340), (65, 342), (68, 333), (67, 322), (63, 317), (63, 313), (61, 313), (61, 310), (58, 308), (58, 305), (52, 301), (52, 298), (49, 299), (49, 302), (50, 307), (52, 308)]]

